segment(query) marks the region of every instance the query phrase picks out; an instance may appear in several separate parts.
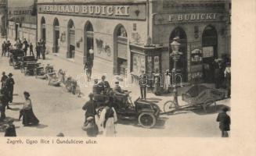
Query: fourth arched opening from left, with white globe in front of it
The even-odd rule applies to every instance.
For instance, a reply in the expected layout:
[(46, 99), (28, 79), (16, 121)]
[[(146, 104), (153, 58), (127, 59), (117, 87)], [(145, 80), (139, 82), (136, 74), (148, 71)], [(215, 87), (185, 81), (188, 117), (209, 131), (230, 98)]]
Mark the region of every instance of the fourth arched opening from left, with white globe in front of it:
[[(85, 40), (84, 40), (84, 60), (87, 62), (88, 58), (91, 58), (93, 60), (94, 58), (94, 33), (93, 33), (93, 27), (91, 22), (85, 23)], [(91, 57), (89, 57), (91, 56)]]

